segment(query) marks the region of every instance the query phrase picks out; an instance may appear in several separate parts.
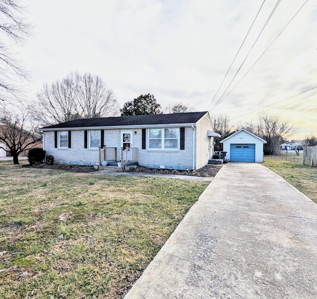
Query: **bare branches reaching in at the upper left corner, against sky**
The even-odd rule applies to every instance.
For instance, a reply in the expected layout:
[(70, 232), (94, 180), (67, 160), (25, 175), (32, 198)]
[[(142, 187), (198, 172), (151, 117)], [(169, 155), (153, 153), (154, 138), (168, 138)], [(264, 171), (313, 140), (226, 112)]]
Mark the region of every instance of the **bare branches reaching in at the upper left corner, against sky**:
[(19, 95), (17, 78), (27, 78), (28, 73), (21, 66), (11, 46), (23, 45), (30, 34), (30, 26), (25, 19), (25, 9), (18, 0), (0, 0), (0, 102), (10, 102)]

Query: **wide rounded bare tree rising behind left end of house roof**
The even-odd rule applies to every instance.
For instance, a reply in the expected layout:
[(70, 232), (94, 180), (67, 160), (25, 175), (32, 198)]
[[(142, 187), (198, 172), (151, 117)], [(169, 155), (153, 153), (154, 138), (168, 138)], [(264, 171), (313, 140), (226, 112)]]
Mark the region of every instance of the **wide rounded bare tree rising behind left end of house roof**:
[(42, 125), (118, 114), (115, 95), (101, 77), (78, 72), (45, 84), (31, 108), (33, 118)]

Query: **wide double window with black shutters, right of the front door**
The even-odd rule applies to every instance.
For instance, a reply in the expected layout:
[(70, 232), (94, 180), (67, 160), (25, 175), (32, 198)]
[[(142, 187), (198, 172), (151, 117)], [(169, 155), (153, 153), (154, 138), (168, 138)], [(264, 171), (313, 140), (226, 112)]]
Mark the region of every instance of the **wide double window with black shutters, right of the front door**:
[(149, 129), (149, 149), (178, 149), (178, 128)]

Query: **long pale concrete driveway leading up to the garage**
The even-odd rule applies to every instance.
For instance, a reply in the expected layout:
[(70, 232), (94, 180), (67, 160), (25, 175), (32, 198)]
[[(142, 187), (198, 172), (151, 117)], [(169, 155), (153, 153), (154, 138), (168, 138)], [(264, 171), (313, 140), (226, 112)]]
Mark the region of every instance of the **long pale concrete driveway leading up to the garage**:
[(229, 163), (125, 299), (317, 298), (317, 204), (257, 163)]

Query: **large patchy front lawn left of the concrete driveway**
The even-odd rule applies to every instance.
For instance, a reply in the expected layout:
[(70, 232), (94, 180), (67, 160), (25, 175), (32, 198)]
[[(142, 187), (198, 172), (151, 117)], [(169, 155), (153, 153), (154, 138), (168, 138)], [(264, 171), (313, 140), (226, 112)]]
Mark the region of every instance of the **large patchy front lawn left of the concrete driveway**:
[(0, 298), (122, 298), (207, 185), (0, 162)]

